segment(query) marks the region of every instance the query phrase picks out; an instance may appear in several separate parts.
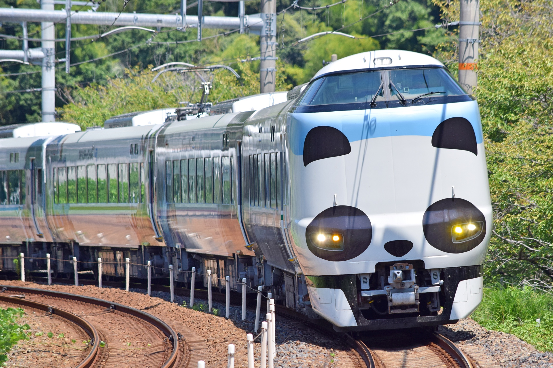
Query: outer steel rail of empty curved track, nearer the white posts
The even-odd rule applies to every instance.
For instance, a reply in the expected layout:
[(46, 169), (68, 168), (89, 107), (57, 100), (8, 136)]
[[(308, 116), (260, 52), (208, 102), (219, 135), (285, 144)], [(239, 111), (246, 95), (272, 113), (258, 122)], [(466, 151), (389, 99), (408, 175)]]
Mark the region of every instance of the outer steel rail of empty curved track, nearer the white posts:
[(152, 314), (140, 311), (139, 309), (136, 309), (136, 308), (124, 306), (123, 304), (108, 302), (103, 299), (86, 297), (82, 295), (64, 293), (60, 291), (35, 289), (31, 287), (20, 287), (20, 286), (11, 286), (11, 285), (0, 285), (0, 287), (2, 288), (5, 287), (7, 291), (26, 292), (30, 294), (42, 294), (42, 295), (54, 297), (54, 298), (69, 299), (69, 300), (78, 301), (78, 302), (95, 304), (96, 306), (111, 308), (119, 312), (130, 314), (131, 316), (137, 317), (139, 319), (143, 319), (148, 323), (154, 325), (156, 328), (158, 328), (169, 339), (169, 341), (171, 341), (171, 344), (173, 345), (173, 351), (171, 351), (169, 359), (165, 362), (163, 366), (161, 366), (161, 368), (173, 368), (176, 365), (176, 362), (178, 361), (177, 358), (179, 355), (179, 337), (177, 333), (168, 324), (163, 322), (163, 320), (152, 316)]

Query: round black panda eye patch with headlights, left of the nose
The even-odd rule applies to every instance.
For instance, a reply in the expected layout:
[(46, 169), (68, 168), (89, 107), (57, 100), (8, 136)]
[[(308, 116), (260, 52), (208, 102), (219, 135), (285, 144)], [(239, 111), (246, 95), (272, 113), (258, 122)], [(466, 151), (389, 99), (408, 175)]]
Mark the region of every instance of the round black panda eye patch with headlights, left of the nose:
[(351, 206), (333, 206), (319, 213), (305, 229), (307, 248), (327, 261), (347, 261), (371, 244), (367, 214)]

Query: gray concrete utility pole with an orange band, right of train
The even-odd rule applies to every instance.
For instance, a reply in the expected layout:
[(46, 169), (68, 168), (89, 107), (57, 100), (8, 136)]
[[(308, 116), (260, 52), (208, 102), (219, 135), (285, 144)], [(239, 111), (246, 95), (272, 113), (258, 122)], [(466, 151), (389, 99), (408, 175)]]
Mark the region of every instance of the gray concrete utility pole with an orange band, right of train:
[(459, 21), (459, 83), (468, 93), (476, 88), (480, 1), (461, 0)]

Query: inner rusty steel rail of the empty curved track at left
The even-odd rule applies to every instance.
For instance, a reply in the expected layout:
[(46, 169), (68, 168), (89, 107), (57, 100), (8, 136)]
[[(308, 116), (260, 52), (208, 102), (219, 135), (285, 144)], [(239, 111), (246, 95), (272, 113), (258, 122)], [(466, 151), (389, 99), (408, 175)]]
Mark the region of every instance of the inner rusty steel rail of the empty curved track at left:
[(91, 340), (93, 341), (92, 349), (90, 350), (90, 353), (88, 353), (86, 359), (83, 360), (79, 365), (77, 365), (76, 368), (90, 368), (92, 366), (92, 364), (96, 359), (96, 356), (98, 356), (98, 351), (100, 346), (100, 335), (98, 335), (98, 332), (96, 331), (94, 326), (88, 323), (86, 319), (81, 318), (71, 312), (64, 311), (64, 309), (52, 307), (52, 306), (49, 306), (48, 304), (30, 301), (27, 299), (15, 298), (13, 296), (0, 295), (0, 301), (4, 301), (11, 304), (18, 304), (19, 306), (39, 309), (39, 311), (49, 312), (51, 314), (55, 314), (56, 316), (60, 316), (61, 318), (70, 320), (80, 328), (84, 329), (85, 332), (88, 334), (88, 336), (90, 336)]

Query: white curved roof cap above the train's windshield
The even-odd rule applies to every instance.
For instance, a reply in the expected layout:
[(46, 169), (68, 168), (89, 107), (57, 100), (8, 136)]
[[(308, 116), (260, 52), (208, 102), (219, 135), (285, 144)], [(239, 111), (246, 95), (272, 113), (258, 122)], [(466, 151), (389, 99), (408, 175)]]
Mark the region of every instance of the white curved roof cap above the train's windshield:
[(434, 57), (404, 50), (375, 50), (343, 57), (322, 67), (312, 79), (340, 71), (361, 71), (382, 67), (441, 66)]

